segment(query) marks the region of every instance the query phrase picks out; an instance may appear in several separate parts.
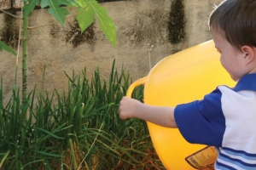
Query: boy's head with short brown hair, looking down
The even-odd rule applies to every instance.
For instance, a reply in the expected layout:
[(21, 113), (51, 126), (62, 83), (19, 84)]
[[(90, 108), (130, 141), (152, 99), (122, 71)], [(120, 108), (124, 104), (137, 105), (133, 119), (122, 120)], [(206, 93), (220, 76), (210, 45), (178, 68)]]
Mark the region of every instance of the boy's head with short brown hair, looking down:
[(209, 20), (220, 62), (239, 81), (256, 73), (256, 0), (225, 0)]

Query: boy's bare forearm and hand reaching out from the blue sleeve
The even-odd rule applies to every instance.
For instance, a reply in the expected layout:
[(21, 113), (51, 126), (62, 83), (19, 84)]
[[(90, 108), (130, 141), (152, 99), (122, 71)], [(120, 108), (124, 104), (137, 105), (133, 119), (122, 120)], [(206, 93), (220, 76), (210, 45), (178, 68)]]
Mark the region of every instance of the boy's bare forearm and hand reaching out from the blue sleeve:
[(137, 99), (123, 97), (119, 105), (119, 117), (127, 119), (135, 117), (162, 127), (177, 127), (173, 107), (146, 105)]

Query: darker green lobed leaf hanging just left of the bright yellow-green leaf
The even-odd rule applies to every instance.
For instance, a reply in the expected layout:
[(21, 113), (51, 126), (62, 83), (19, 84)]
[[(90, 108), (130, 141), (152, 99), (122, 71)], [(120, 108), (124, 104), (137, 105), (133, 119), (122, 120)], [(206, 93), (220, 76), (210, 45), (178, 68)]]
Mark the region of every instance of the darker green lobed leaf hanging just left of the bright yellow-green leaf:
[(61, 5), (70, 5), (71, 3), (68, 1), (61, 1), (61, 0), (42, 0), (41, 1), (41, 8), (45, 8), (49, 6), (48, 12), (49, 14), (53, 15), (56, 20), (61, 22), (61, 24), (65, 25), (65, 19), (69, 12), (66, 8), (61, 8)]

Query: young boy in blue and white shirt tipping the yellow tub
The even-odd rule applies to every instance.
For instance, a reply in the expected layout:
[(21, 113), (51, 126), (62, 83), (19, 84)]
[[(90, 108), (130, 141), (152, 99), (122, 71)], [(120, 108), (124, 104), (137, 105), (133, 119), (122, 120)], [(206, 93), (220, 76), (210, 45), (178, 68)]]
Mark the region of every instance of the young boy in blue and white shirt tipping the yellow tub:
[(204, 99), (176, 107), (124, 97), (119, 117), (177, 127), (189, 143), (218, 147), (215, 169), (256, 169), (256, 0), (224, 1), (212, 12), (209, 26), (236, 87), (218, 86)]

